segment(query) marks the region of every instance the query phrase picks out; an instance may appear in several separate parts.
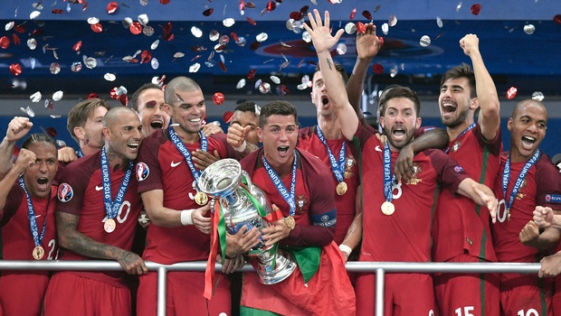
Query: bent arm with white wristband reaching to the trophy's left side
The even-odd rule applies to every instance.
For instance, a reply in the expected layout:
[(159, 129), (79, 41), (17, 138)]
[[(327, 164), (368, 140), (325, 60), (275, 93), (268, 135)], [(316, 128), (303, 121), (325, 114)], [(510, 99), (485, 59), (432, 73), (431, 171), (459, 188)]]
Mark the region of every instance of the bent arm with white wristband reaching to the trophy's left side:
[(208, 204), (198, 209), (168, 209), (164, 207), (164, 191), (151, 190), (140, 193), (144, 209), (152, 224), (163, 228), (179, 228), (195, 225), (204, 234), (210, 233), (211, 218), (204, 217), (210, 209)]

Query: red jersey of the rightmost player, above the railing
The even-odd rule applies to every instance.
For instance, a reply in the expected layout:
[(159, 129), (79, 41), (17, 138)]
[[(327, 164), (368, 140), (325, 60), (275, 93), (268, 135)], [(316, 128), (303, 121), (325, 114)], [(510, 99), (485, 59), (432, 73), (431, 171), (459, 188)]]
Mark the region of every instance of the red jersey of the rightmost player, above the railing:
[(561, 199), (555, 200), (551, 197), (561, 198), (561, 174), (557, 172), (556, 166), (551, 163), (549, 157), (542, 153), (524, 177), (516, 199), (512, 203), (510, 218), (508, 219), (505, 213), (505, 200), (510, 199), (509, 195), (514, 183), (518, 180), (518, 175), (526, 164), (526, 162), (510, 163), (508, 197), (505, 197), (502, 191), (502, 172), (508, 157), (509, 153), (501, 155), (499, 177), (497, 177), (493, 190), (500, 201), (497, 223), (492, 226), (493, 245), (499, 262), (536, 263), (546, 254), (533, 246), (522, 244), (518, 234), (534, 217), (533, 211), (536, 206), (559, 209)]

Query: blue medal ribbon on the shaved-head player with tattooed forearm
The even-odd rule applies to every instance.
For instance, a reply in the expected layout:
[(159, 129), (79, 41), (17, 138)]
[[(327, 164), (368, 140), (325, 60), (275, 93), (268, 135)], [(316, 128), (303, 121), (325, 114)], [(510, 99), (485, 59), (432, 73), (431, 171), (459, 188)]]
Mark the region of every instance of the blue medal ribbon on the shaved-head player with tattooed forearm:
[(119, 213), (119, 208), (123, 199), (125, 198), (125, 193), (128, 189), (128, 181), (130, 181), (130, 175), (132, 174), (132, 169), (134, 165), (131, 161), (128, 162), (127, 172), (123, 177), (123, 181), (120, 183), (119, 191), (117, 191), (117, 196), (115, 200), (111, 201), (111, 177), (109, 175), (109, 162), (107, 161), (107, 154), (105, 153), (105, 147), (101, 150), (101, 183), (103, 185), (103, 204), (105, 205), (105, 212), (107, 213), (107, 218), (115, 218)]

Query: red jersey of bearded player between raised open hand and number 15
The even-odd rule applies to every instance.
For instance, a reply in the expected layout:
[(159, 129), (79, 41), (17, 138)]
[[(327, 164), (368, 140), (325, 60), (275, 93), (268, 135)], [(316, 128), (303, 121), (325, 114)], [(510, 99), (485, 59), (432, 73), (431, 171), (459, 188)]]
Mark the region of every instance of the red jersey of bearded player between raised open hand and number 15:
[[(452, 192), (467, 178), (458, 163), (438, 150), (414, 156), (415, 173), (392, 187), (395, 213), (385, 215), (384, 147), (378, 135), (358, 126), (363, 157), (363, 239), (360, 261), (431, 261), (431, 221), (438, 197), (437, 181)], [(399, 152), (392, 152), (393, 166)], [(393, 167), (392, 167), (393, 169)], [(453, 193), (452, 193), (453, 194)], [(396, 251), (395, 249), (399, 249)]]

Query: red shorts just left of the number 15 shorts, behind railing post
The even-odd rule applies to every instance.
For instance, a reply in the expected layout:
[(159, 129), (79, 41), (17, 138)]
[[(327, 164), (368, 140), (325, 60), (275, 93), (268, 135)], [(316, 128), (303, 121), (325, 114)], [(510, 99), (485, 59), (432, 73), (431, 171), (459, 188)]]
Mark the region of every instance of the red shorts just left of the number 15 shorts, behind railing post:
[[(359, 274), (357, 315), (376, 311), (376, 274)], [(385, 274), (384, 315), (434, 315), (433, 278), (429, 274)]]

